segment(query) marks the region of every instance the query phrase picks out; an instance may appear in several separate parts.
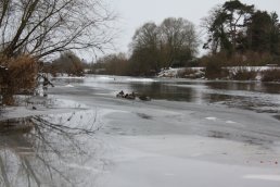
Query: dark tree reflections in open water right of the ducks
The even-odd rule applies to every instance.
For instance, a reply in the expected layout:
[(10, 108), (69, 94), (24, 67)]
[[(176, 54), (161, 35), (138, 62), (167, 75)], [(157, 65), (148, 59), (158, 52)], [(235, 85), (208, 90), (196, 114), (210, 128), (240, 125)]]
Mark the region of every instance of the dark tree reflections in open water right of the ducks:
[(153, 99), (215, 103), (230, 108), (278, 113), (280, 84), (242, 82), (156, 82), (129, 83), (130, 90)]

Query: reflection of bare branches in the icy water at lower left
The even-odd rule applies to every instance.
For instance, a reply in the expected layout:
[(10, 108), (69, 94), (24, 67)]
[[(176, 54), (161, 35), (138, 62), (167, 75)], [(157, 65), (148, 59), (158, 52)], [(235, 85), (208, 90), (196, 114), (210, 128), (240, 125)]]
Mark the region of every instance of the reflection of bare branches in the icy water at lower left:
[(0, 186), (93, 186), (92, 171), (82, 165), (94, 158), (85, 138), (96, 122), (93, 111), (1, 122)]

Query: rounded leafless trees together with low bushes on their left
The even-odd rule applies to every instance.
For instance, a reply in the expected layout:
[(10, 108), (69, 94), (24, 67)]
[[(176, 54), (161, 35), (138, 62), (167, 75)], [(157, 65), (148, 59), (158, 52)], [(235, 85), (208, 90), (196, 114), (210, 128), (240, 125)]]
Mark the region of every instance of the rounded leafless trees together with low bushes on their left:
[(138, 28), (129, 46), (131, 55), (110, 54), (98, 60), (94, 73), (150, 76), (163, 67), (186, 66), (198, 54), (199, 36), (184, 18), (169, 17)]

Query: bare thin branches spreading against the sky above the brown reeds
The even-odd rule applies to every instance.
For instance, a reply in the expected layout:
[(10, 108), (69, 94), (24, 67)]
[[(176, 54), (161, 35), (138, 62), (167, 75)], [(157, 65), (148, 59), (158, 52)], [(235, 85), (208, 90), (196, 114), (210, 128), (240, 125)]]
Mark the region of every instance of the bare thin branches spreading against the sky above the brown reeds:
[(114, 15), (101, 0), (1, 0), (0, 51), (7, 57), (90, 48), (102, 50), (112, 37)]

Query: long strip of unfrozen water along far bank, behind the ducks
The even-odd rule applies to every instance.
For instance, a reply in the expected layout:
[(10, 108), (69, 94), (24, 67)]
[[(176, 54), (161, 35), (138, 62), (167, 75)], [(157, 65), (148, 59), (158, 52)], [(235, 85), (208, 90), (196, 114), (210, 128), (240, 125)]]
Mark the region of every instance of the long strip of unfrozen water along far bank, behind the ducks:
[(167, 78), (89, 76), (85, 79), (56, 79), (85, 94), (114, 97), (118, 91), (138, 92), (155, 100), (222, 104), (280, 115), (280, 84), (259, 82), (208, 82)]

